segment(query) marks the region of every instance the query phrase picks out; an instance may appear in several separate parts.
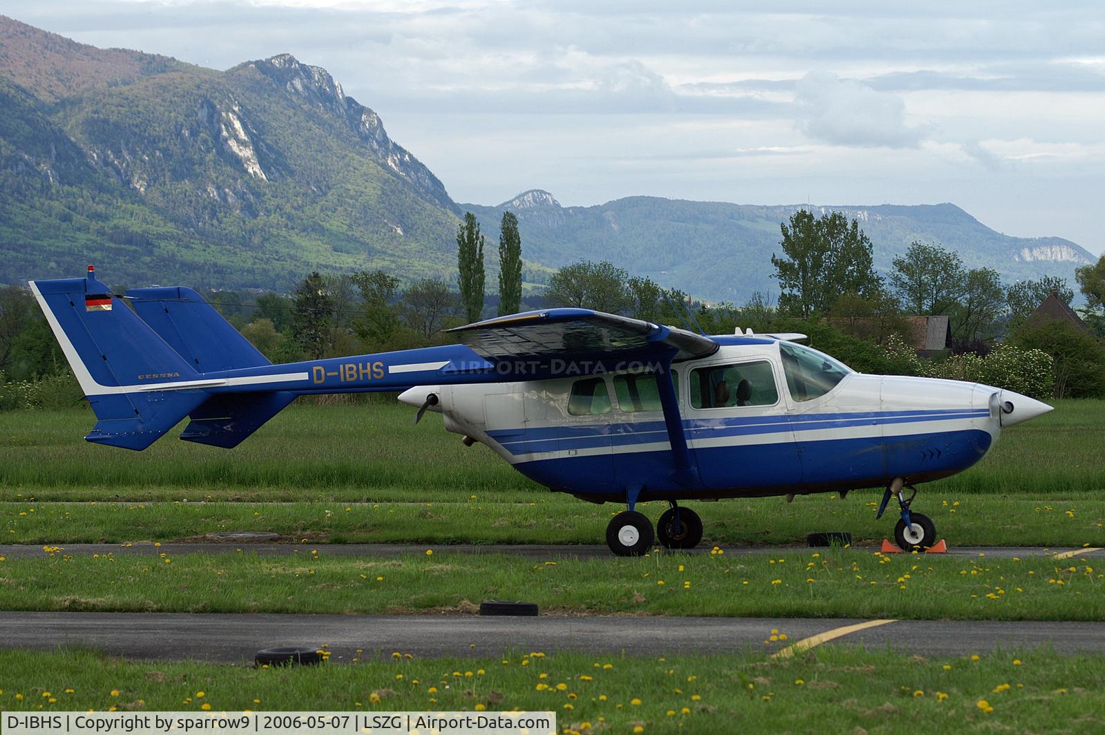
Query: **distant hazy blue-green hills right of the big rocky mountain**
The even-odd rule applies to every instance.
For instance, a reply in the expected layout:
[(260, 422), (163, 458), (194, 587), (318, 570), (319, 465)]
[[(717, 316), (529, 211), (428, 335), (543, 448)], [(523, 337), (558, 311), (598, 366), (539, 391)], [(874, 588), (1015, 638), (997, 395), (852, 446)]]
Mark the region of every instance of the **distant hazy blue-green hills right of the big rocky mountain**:
[(461, 204), (485, 231), (505, 211), (518, 218), (526, 256), (560, 266), (609, 260), (633, 275), (714, 301), (743, 302), (754, 291), (778, 294), (771, 253), (780, 222), (799, 209), (839, 211), (859, 219), (871, 238), (875, 266), (890, 270), (915, 240), (956, 251), (968, 267), (989, 266), (1012, 282), (1060, 275), (1097, 259), (1061, 238), (1013, 238), (994, 232), (955, 204), (877, 207), (761, 207), (628, 197), (596, 207), (561, 207), (548, 191), (532, 189), (497, 207)]

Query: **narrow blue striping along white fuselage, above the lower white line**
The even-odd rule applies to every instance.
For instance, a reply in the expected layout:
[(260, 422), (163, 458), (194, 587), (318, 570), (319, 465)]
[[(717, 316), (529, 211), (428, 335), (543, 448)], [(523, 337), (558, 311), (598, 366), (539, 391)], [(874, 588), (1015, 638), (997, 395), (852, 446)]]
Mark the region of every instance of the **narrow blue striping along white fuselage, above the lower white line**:
[[(683, 427), (690, 439), (713, 439), (787, 431), (820, 431), (862, 426), (977, 419), (989, 414), (989, 409), (772, 414), (684, 419)], [(667, 441), (667, 431), (663, 421), (495, 429), (488, 431), (487, 435), (495, 440), (502, 440), (502, 445), (514, 455), (607, 445), (631, 447)]]

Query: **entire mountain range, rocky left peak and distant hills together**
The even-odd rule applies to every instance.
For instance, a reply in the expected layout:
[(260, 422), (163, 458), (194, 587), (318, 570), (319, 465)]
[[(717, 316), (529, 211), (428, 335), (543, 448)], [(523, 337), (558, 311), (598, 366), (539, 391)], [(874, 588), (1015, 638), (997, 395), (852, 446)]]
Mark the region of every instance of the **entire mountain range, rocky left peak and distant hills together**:
[[(96, 49), (0, 15), (0, 283), (78, 274), (115, 284), (288, 291), (312, 270), (453, 277), (459, 216), (494, 238), (518, 217), (525, 277), (610, 260), (713, 301), (775, 292), (770, 255), (798, 206), (630, 197), (561, 207), (525, 191), (457, 206), (326, 70), (290, 54), (227, 71)], [(1011, 238), (953, 204), (831, 207), (859, 218), (886, 270), (914, 240), (1007, 281), (1072, 279), (1093, 256)]]

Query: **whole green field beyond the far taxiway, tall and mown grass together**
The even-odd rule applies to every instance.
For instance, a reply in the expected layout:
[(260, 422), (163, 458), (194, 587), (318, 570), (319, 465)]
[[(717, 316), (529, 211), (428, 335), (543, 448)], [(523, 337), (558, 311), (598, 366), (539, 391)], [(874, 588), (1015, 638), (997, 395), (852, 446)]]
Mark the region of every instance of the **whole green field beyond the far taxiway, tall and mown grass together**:
[[(1065, 401), (1006, 431), (977, 466), (922, 487), (915, 508), (958, 545), (1105, 545), (1105, 401)], [(0, 543), (170, 540), (265, 531), (314, 543), (597, 543), (614, 504), (550, 493), (482, 445), (388, 398), (294, 407), (234, 450), (162, 439), (92, 445), (82, 410), (0, 413)], [(696, 503), (716, 544), (800, 543), (874, 519), (877, 491)], [(65, 502), (74, 502), (66, 505)], [(659, 516), (663, 504), (642, 506)], [(348, 510), (347, 510), (348, 508)]]

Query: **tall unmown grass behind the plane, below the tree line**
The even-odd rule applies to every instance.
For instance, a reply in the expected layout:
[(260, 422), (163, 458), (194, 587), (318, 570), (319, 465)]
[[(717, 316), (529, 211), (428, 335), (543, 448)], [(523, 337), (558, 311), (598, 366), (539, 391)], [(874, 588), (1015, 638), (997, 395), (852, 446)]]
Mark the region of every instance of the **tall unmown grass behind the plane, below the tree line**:
[[(941, 496), (1028, 493), (1060, 500), (1105, 490), (1103, 400), (1056, 401), (1002, 433), (965, 473), (930, 483)], [(545, 491), (485, 447), (465, 448), (429, 413), (390, 397), (351, 406), (294, 406), (233, 450), (171, 435), (134, 453), (83, 441), (91, 411), (0, 412), (0, 489), (39, 500), (393, 501), (494, 494), (525, 502)], [(170, 432), (170, 434), (176, 432)]]

